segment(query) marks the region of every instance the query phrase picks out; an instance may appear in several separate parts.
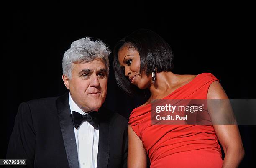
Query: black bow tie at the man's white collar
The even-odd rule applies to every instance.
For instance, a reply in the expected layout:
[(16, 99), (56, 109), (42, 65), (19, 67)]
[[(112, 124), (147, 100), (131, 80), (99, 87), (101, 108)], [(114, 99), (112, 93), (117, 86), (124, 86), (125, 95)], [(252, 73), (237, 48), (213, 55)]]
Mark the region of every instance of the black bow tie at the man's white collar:
[(92, 111), (88, 114), (81, 115), (76, 111), (72, 111), (70, 115), (75, 128), (78, 128), (83, 121), (87, 121), (90, 125), (97, 128), (99, 125), (98, 113), (99, 112)]

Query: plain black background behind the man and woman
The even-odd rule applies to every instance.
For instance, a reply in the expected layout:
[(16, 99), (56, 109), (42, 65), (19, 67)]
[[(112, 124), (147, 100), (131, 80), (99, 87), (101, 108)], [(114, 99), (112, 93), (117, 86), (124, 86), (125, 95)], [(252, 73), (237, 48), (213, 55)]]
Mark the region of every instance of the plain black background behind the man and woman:
[[(230, 99), (256, 99), (251, 4), (59, 1), (9, 5), (4, 17), (10, 28), (4, 32), (8, 40), (3, 56), (6, 60), (2, 62), (8, 112), (4, 117), (6, 136), (1, 158), (5, 158), (18, 105), (66, 91), (61, 79), (62, 56), (72, 41), (86, 36), (99, 38), (113, 50), (125, 35), (138, 28), (149, 28), (172, 47), (174, 73), (210, 72), (220, 80)], [(132, 109), (143, 102), (143, 98), (128, 97), (118, 88), (110, 55), (104, 106), (128, 118)], [(254, 167), (255, 128), (255, 125), (239, 125), (246, 152), (240, 167)]]

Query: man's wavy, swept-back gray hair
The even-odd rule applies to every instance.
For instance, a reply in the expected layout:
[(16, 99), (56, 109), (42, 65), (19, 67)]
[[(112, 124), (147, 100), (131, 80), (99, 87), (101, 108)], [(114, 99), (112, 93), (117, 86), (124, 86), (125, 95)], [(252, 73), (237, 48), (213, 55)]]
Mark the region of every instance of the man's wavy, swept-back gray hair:
[(85, 63), (93, 61), (95, 58), (102, 58), (105, 60), (107, 73), (109, 74), (109, 60), (108, 56), (111, 51), (108, 46), (99, 39), (92, 41), (90, 37), (81, 38), (73, 41), (70, 48), (64, 53), (62, 59), (63, 74), (68, 78), (72, 77), (72, 64)]

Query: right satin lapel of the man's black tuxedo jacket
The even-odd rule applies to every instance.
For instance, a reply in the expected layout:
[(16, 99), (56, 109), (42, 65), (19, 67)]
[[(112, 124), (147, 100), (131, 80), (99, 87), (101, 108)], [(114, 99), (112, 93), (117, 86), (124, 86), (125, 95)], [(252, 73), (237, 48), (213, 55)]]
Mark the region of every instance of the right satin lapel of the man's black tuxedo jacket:
[(105, 112), (103, 108), (100, 108), (99, 112), (100, 124), (97, 168), (107, 168), (110, 152), (110, 122), (107, 120), (107, 112)]

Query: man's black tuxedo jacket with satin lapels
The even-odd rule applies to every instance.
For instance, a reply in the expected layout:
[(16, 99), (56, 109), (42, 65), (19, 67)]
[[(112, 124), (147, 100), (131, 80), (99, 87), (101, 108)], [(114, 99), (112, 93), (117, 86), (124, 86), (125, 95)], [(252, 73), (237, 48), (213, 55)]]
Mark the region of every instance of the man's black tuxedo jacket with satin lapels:
[[(127, 167), (128, 120), (101, 107), (97, 168)], [(68, 93), (21, 103), (7, 159), (27, 159), (28, 167), (79, 168)]]

